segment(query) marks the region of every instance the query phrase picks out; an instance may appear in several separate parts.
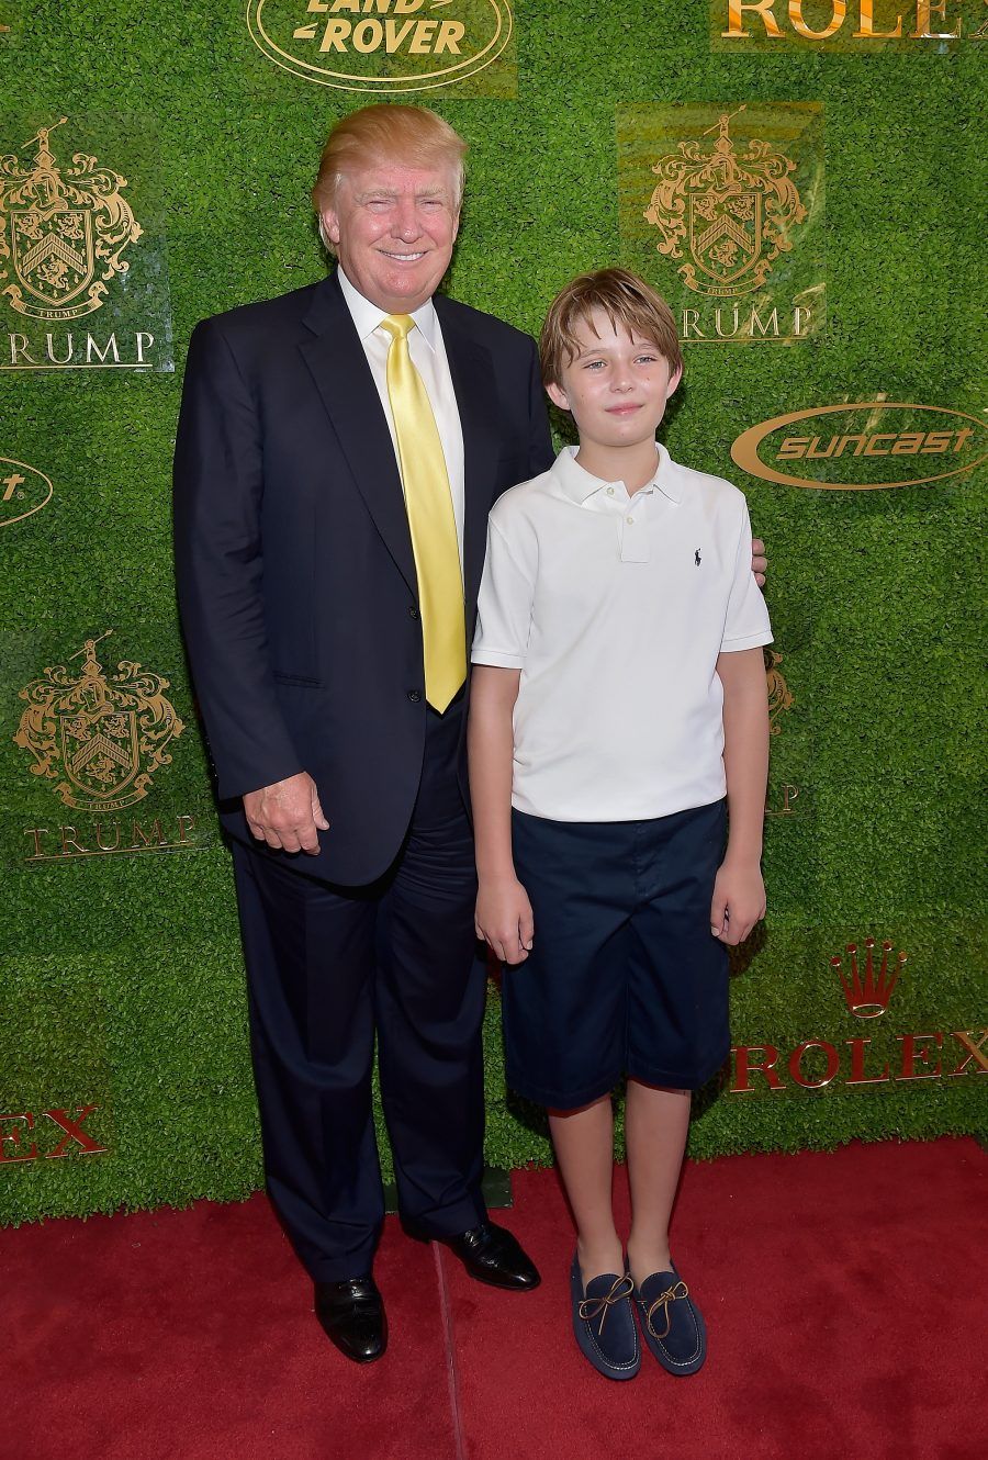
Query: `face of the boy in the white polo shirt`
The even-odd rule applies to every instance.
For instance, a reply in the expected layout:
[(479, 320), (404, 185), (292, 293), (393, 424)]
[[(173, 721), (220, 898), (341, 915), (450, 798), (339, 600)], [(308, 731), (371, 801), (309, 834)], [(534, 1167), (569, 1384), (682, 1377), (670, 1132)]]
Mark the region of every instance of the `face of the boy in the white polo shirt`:
[(576, 353), (562, 380), (546, 388), (550, 400), (572, 413), (581, 442), (630, 447), (654, 439), (682, 369), (670, 372), (651, 340), (632, 337), (623, 326), (616, 330), (604, 310), (581, 321), (575, 336)]

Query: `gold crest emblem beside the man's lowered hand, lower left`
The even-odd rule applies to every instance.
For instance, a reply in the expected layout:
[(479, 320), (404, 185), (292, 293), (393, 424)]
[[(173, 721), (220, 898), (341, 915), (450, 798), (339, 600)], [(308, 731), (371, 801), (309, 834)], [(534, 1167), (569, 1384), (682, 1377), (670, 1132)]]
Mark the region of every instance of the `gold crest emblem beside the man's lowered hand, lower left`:
[(86, 639), (72, 656), (83, 656), (80, 673), (57, 664), (20, 691), (28, 708), (13, 737), (34, 755), (32, 774), (63, 777), (55, 793), (86, 812), (118, 810), (147, 796), (153, 772), (171, 765), (169, 740), (185, 729), (163, 695), (166, 679), (130, 660), (108, 676), (96, 644)]

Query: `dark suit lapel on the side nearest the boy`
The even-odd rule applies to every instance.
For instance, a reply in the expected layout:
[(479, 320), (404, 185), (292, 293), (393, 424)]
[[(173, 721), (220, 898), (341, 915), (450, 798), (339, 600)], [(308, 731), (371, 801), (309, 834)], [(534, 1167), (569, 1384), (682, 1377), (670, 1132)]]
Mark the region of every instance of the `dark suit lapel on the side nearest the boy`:
[(447, 347), (449, 375), (463, 428), (463, 583), (467, 600), (467, 625), (470, 625), (473, 606), (480, 591), (480, 572), (487, 543), (487, 512), (493, 505), (496, 486), (498, 437), (493, 416), (498, 387), (487, 350), (476, 345), (467, 330), (461, 327), (455, 311), (449, 308), (449, 301), (436, 295), (433, 302), (442, 326), (442, 340)]

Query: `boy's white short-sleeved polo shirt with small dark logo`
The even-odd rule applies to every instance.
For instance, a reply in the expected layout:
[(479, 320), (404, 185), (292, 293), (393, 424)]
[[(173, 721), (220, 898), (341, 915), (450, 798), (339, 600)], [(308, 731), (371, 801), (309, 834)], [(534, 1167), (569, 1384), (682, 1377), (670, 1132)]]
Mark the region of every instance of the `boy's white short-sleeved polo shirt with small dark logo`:
[(741, 492), (658, 445), (633, 496), (566, 447), (487, 524), (474, 664), (520, 669), (512, 804), (642, 821), (725, 793), (717, 657), (772, 641)]

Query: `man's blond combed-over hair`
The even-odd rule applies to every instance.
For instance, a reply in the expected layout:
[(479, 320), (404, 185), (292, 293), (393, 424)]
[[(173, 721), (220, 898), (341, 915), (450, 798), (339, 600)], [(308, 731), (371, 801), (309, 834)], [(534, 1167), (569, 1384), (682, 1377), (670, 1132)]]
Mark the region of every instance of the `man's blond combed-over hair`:
[(323, 212), (333, 207), (336, 190), (352, 168), (401, 162), (410, 166), (449, 166), (455, 177), (454, 203), (463, 201), (467, 143), (448, 121), (428, 107), (362, 107), (337, 121), (330, 133), (320, 171), (312, 184), (312, 207), (320, 215), (320, 238), (330, 248), (323, 229)]

